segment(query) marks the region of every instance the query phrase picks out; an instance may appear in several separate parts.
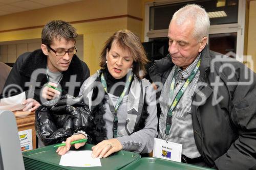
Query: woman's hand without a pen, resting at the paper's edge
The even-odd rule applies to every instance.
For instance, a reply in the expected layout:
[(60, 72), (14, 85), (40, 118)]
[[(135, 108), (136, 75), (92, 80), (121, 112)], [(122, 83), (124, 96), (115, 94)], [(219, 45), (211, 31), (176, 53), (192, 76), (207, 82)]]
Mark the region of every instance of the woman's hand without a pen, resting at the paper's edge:
[(122, 149), (123, 149), (122, 144), (120, 143), (119, 140), (115, 138), (103, 140), (99, 142), (97, 145), (95, 145), (94, 147), (92, 147), (92, 150), (93, 150), (92, 157), (106, 158), (112, 153), (118, 152)]

